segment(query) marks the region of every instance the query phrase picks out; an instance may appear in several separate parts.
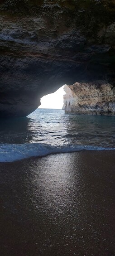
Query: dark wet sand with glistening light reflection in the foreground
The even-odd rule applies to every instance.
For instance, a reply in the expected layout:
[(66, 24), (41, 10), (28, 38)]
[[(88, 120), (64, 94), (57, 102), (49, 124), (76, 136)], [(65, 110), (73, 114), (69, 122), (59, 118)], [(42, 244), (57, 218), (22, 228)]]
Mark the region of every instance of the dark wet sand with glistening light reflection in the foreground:
[(0, 163), (1, 256), (114, 256), (115, 151)]

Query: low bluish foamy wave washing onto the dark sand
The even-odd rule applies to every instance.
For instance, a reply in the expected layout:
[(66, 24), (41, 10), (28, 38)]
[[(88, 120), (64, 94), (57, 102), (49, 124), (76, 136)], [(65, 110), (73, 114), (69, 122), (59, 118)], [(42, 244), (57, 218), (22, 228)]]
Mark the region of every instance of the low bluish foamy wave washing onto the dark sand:
[(14, 162), (33, 156), (45, 156), (57, 153), (71, 153), (81, 150), (115, 150), (115, 148), (105, 148), (91, 145), (48, 145), (42, 143), (29, 144), (1, 144), (0, 162)]

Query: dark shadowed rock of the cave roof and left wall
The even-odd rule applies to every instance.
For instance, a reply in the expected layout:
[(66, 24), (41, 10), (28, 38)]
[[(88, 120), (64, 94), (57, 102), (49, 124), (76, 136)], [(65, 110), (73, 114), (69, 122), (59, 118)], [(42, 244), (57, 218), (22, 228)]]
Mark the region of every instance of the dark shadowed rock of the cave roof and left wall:
[(106, 81), (107, 106), (114, 68), (114, 0), (0, 1), (0, 117), (27, 116), (75, 82), (93, 95)]

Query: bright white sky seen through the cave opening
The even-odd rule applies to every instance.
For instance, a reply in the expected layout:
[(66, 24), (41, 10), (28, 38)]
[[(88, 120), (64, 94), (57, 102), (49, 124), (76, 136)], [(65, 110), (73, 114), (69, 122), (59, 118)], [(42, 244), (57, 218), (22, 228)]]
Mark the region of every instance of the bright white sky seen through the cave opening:
[(66, 94), (63, 90), (64, 85), (56, 92), (50, 93), (41, 98), (41, 105), (38, 108), (61, 108), (63, 106), (63, 95)]

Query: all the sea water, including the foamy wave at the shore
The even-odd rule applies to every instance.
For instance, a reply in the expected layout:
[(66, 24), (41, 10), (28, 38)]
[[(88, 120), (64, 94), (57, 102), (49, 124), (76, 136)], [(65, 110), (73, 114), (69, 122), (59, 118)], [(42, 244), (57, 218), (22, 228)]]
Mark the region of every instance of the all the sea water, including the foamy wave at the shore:
[(37, 109), (0, 120), (0, 162), (80, 150), (115, 150), (115, 117)]

